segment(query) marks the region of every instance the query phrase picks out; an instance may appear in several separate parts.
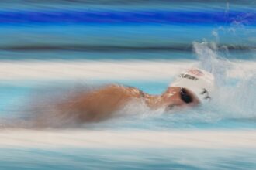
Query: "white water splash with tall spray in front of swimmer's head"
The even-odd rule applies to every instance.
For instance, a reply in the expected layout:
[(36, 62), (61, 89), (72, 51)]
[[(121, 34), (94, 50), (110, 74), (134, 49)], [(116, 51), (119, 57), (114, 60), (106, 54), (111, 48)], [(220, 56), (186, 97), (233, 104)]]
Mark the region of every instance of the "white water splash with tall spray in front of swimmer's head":
[[(238, 83), (230, 85), (227, 76), (228, 71), (234, 67), (230, 61), (220, 56), (215, 42), (194, 42), (194, 50), (200, 61), (199, 66), (207, 70), (216, 78), (217, 89), (211, 104), (199, 112), (209, 112), (212, 110), (214, 117), (216, 113), (219, 118), (250, 118), (255, 117), (256, 109), (256, 73), (247, 75), (240, 79)], [(238, 70), (239, 68), (233, 68)], [(214, 111), (216, 113), (214, 113)], [(211, 116), (210, 116), (211, 117)], [(216, 120), (216, 119), (214, 119)]]

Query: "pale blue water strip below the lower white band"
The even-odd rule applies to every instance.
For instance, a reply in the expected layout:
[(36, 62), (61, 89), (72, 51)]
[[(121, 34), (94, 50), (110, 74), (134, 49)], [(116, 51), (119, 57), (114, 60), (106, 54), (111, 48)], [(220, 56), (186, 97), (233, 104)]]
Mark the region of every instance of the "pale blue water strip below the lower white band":
[[(253, 169), (255, 149), (1, 149), (2, 169)], [(24, 152), (26, 155), (24, 155)], [(196, 155), (194, 153), (197, 153)]]

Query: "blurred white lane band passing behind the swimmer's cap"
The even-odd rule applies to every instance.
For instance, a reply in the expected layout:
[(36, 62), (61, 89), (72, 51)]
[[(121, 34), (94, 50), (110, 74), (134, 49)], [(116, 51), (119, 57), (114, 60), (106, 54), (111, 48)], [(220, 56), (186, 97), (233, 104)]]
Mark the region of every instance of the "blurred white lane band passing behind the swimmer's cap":
[[(256, 61), (230, 63), (227, 76), (256, 73)], [(2, 61), (0, 80), (168, 79), (197, 65), (195, 60)]]

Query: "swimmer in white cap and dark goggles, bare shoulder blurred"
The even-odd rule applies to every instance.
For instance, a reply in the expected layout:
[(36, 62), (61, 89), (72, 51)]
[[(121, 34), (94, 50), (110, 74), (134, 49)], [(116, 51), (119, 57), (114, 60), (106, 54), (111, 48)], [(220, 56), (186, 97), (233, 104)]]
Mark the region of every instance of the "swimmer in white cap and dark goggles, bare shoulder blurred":
[(194, 107), (211, 100), (214, 77), (205, 70), (193, 68), (181, 73), (161, 95), (150, 95), (135, 87), (108, 85), (87, 93), (79, 93), (56, 104), (61, 116), (75, 117), (76, 121), (106, 120), (129, 102), (144, 102), (152, 110), (174, 107)]

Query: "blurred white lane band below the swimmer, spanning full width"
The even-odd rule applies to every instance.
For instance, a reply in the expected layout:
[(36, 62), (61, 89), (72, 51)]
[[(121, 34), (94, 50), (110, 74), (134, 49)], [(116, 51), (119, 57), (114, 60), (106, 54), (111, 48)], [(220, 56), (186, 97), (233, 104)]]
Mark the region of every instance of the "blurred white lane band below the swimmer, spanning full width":
[(0, 148), (255, 148), (256, 131), (2, 130)]

